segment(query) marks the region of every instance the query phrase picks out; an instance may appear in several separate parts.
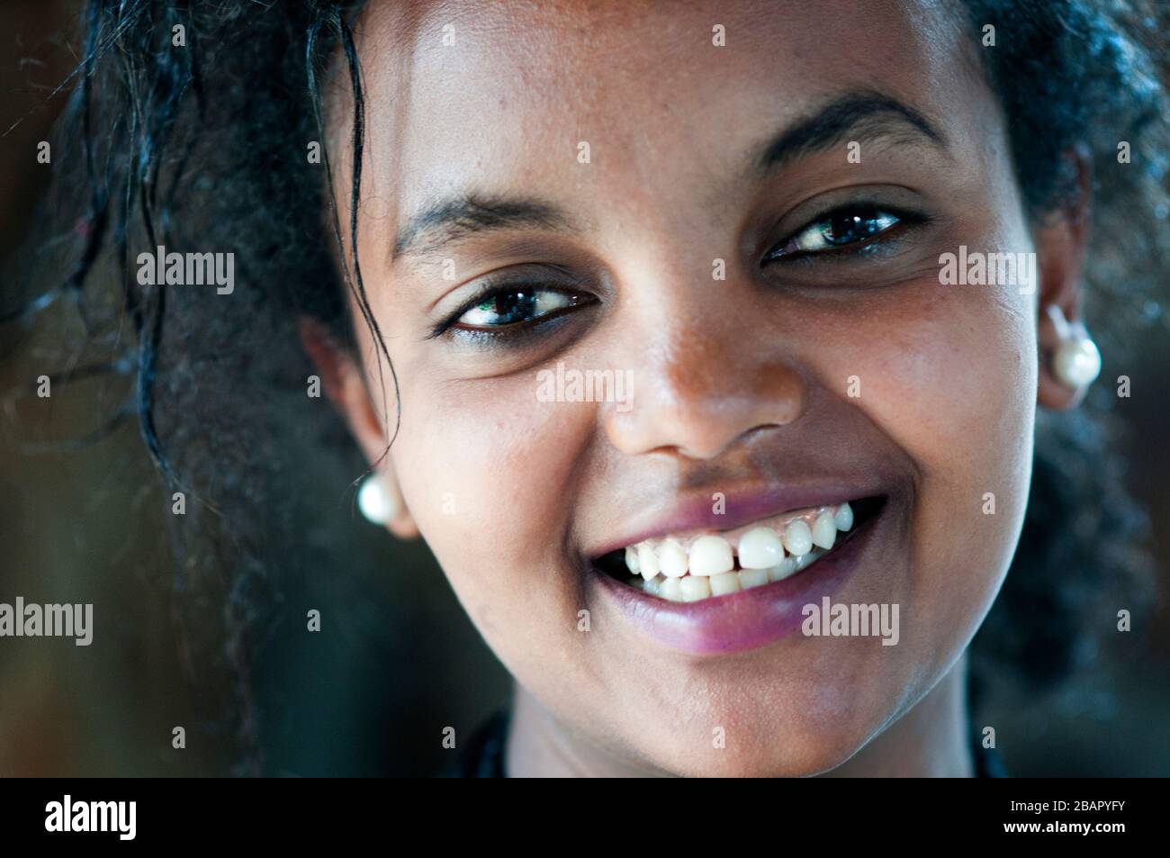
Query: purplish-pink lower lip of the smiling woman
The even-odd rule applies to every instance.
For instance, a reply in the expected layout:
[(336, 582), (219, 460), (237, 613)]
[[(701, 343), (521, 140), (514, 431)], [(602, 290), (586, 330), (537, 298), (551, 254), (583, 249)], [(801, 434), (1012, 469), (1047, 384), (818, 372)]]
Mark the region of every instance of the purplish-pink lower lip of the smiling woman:
[(839, 548), (790, 578), (700, 602), (668, 602), (591, 569), (629, 622), (642, 633), (690, 654), (753, 650), (796, 632), (807, 604), (832, 596), (861, 565), (887, 509), (854, 531)]

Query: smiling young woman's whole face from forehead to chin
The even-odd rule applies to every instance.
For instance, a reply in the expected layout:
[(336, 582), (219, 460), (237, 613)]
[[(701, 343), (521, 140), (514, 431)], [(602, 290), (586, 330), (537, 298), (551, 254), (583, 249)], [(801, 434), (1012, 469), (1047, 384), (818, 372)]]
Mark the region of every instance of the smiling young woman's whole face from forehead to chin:
[[(401, 397), (387, 476), (517, 681), (624, 759), (838, 766), (948, 673), (1006, 572), (1037, 297), (942, 286), (940, 256), (1033, 245), (957, 14), (363, 13), (358, 252)], [(392, 428), (374, 355), (366, 338)], [(604, 370), (627, 386), (569, 401), (589, 393), (574, 371)], [(702, 578), (725, 558), (697, 535), (738, 550), (762, 523), (783, 542), (846, 501), (844, 543), (790, 577), (737, 575), (762, 585), (734, 595), (673, 600), (708, 578), (663, 598), (600, 560), (674, 540)], [(896, 605), (896, 644), (806, 636), (824, 597)]]

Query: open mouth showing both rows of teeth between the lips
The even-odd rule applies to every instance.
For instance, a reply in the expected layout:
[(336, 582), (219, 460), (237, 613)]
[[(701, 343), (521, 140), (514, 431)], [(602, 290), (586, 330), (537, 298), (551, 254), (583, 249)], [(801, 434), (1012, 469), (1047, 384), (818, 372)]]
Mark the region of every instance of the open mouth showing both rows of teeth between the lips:
[[(796, 509), (721, 533), (666, 535), (596, 561), (607, 576), (668, 602), (701, 602), (814, 574), (817, 561), (852, 540), (885, 497)], [(810, 567), (813, 572), (805, 572)]]

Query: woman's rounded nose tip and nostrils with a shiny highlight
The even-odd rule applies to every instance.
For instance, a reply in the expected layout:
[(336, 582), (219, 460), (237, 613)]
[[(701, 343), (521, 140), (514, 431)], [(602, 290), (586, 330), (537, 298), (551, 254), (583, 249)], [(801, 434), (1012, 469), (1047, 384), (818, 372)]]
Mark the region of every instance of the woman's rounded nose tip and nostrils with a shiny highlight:
[(606, 414), (610, 442), (628, 455), (714, 459), (757, 430), (794, 421), (806, 384), (790, 358), (760, 342), (758, 318), (713, 327), (698, 316), (641, 349), (629, 407)]

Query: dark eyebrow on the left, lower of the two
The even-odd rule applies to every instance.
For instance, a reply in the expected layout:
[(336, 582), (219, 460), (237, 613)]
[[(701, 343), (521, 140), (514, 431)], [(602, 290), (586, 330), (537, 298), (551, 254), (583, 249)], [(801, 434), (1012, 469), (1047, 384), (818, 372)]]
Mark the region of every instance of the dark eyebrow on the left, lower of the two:
[(433, 203), (407, 220), (394, 239), (394, 256), (433, 253), (475, 233), (525, 226), (566, 229), (570, 219), (539, 200), (463, 194)]

